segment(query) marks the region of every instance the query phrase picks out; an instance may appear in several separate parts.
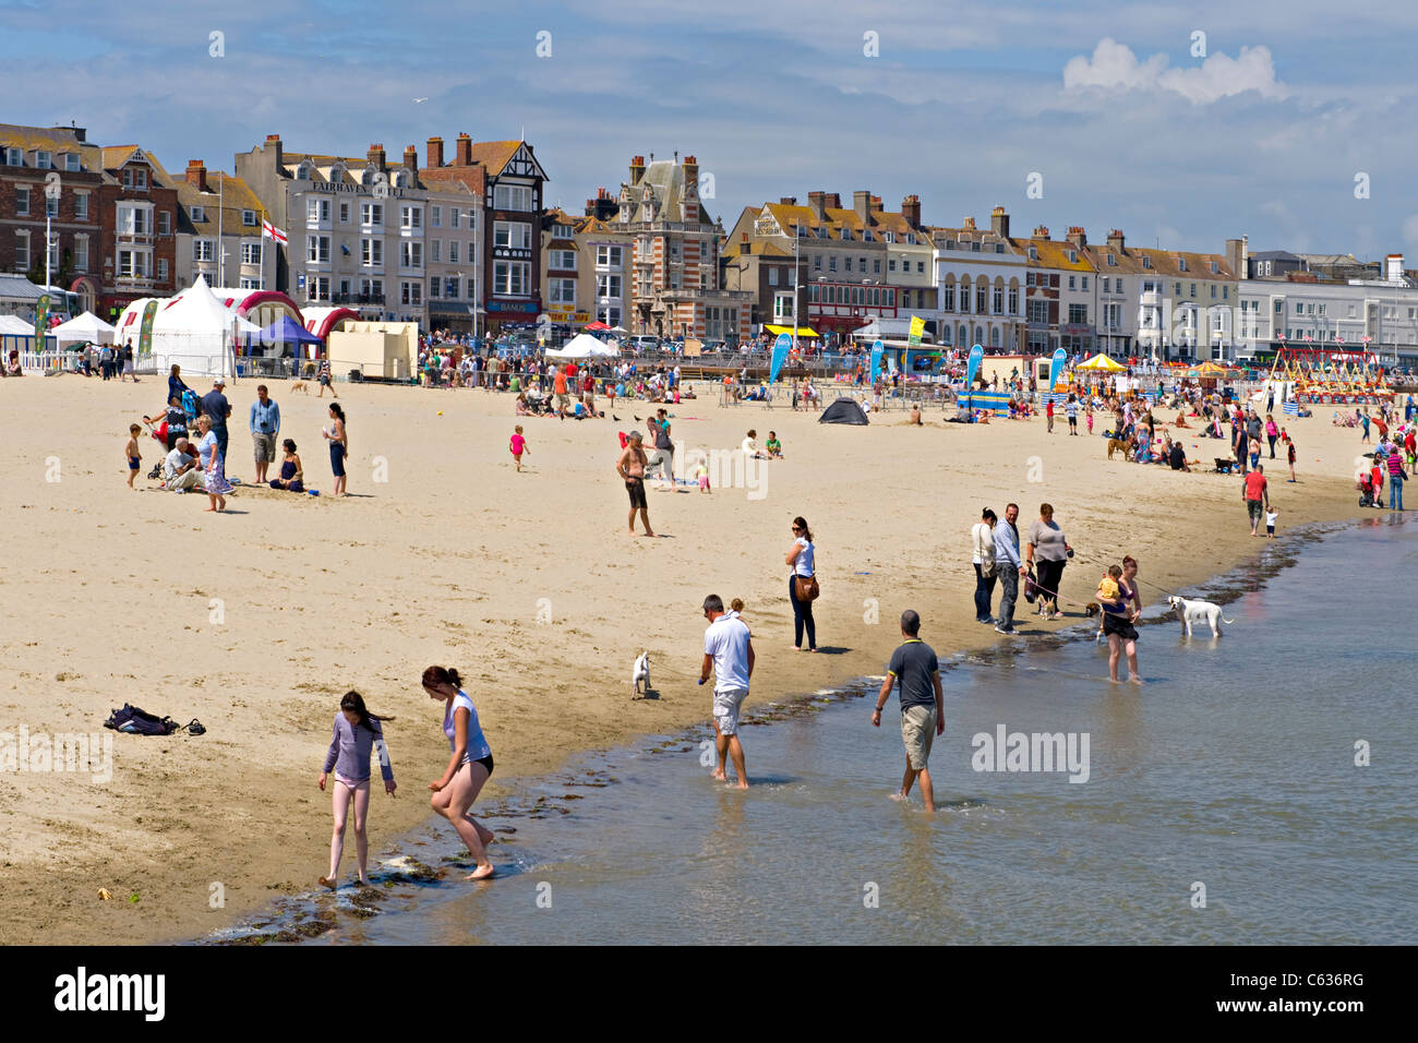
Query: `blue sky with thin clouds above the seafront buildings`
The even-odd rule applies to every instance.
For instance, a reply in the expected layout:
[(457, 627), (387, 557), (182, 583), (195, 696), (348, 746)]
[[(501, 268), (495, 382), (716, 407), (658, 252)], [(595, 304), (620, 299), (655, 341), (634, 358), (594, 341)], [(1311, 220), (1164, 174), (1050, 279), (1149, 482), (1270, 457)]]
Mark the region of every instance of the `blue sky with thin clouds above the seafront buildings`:
[(576, 213), (632, 155), (678, 149), (726, 224), (871, 189), (888, 209), (919, 194), (934, 224), (1004, 204), (1055, 238), (1418, 258), (1418, 4), (0, 0), (0, 121), (74, 121), (176, 170), (230, 169), (268, 133), (423, 160), (431, 135), (525, 131), (547, 202)]

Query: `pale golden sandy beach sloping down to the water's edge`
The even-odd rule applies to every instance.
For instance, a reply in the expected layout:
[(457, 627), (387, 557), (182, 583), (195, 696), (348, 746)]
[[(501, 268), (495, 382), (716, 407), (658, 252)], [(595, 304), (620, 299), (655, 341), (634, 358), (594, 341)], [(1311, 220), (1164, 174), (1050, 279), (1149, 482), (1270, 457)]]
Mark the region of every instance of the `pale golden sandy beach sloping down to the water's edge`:
[[(255, 385), (227, 387), (227, 474), (247, 481)], [(1062, 420), (1052, 436), (1042, 419), (959, 426), (939, 409), (922, 429), (899, 412), (865, 429), (818, 426), (786, 406), (722, 409), (709, 385), (699, 385), (705, 399), (669, 407), (676, 440), (730, 450), (747, 429), (760, 446), (773, 429), (786, 458), (766, 465), (752, 495), (651, 490), (658, 539), (627, 534), (613, 470), (615, 431), (644, 430), (634, 417), (654, 406), (617, 403), (621, 423), (525, 417), (532, 456), (516, 474), (512, 396), (482, 390), (340, 385), (350, 495), (244, 487), (213, 515), (204, 495), (126, 487), (128, 424), (156, 413), (164, 387), (155, 377), (0, 382), (10, 447), (0, 460), (0, 732), (113, 739), (106, 782), (0, 771), (0, 944), (187, 939), (315, 887), (330, 832), (330, 798), (315, 779), (350, 688), (396, 718), (386, 735), (398, 795), (376, 785), (370, 800), (377, 853), (430, 817), (425, 785), (448, 759), (441, 708), (418, 685), (430, 664), (462, 673), (496, 756), (495, 793), (576, 752), (708, 719), (695, 677), (710, 592), (746, 603), (753, 705), (881, 673), (905, 607), (920, 612), (922, 636), (943, 654), (1004, 640), (973, 622), (968, 529), (981, 507), (1003, 514), (1017, 501), (1022, 532), (1041, 501), (1054, 504), (1079, 555), (1062, 592), (1081, 602), (1095, 561), (1136, 556), (1156, 585), (1143, 587), (1150, 605), (1157, 586), (1201, 582), (1261, 542), (1238, 478), (1109, 461), (1103, 438), (1068, 437)], [(281, 382), (271, 393), (306, 484), (325, 494), (328, 400)], [(1283, 460), (1266, 461), (1282, 534), (1360, 514), (1358, 431), (1332, 427), (1329, 409), (1286, 426), (1300, 481), (1285, 481)], [(1185, 434), (1188, 457), (1207, 467), (1224, 454), (1225, 443)], [(142, 451), (146, 475), (162, 447), (145, 437)], [(817, 538), (818, 643), (830, 654), (790, 647), (783, 555), (798, 514)], [(1021, 602), (1025, 637), (1015, 640), (1078, 623), (1079, 609), (1065, 607), (1066, 619), (1042, 623)], [(632, 701), (641, 650), (659, 698)], [(199, 718), (207, 734), (106, 732), (125, 702)], [(752, 736), (746, 749), (750, 776), (767, 768)], [(352, 870), (347, 836), (342, 878)]]

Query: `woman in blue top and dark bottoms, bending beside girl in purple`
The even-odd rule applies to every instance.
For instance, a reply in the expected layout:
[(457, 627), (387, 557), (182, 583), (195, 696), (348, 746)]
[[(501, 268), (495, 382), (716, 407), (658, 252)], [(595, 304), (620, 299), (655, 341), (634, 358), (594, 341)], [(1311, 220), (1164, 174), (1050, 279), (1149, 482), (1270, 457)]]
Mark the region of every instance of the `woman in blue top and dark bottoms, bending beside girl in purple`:
[(462, 678), (457, 670), (428, 667), (423, 681), (428, 698), (444, 702), (444, 735), (448, 736), (451, 751), (442, 778), (428, 783), (428, 789), (434, 792), (428, 803), (452, 823), (478, 863), (467, 880), (486, 880), (496, 871), (488, 861), (486, 846), (492, 843), (492, 830), (474, 819), (468, 809), (492, 775), (492, 749), (482, 736), (478, 711), (462, 691)]

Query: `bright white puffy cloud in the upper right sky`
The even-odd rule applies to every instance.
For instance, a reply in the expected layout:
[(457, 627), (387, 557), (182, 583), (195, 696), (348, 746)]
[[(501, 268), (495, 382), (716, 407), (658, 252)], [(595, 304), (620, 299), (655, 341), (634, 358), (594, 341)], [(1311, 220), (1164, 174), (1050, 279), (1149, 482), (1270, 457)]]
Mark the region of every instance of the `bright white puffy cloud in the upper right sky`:
[(1133, 50), (1103, 37), (1092, 58), (1076, 55), (1064, 67), (1064, 89), (1171, 91), (1197, 105), (1210, 105), (1246, 91), (1262, 98), (1286, 98), (1289, 88), (1275, 78), (1268, 47), (1242, 47), (1238, 57), (1217, 51), (1200, 65), (1170, 68), (1166, 54), (1139, 61)]

